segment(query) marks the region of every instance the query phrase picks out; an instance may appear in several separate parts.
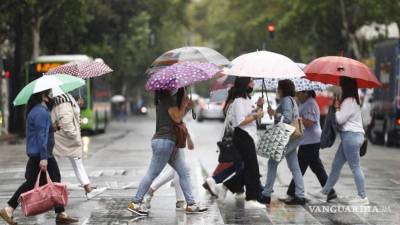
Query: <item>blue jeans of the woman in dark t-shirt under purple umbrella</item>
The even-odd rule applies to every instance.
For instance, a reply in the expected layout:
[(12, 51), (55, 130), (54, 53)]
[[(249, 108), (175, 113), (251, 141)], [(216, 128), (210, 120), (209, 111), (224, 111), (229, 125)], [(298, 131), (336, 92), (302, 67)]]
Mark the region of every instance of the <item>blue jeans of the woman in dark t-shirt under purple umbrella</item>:
[[(186, 166), (184, 154), (176, 154), (175, 158), (171, 158), (173, 151), (176, 149), (175, 142), (168, 139), (153, 139), (151, 141), (153, 156), (151, 158), (150, 166), (140, 182), (136, 196), (133, 202), (140, 203), (154, 179), (161, 173), (164, 167), (169, 163), (172, 168), (179, 174), (179, 182), (188, 205), (195, 203), (192, 187), (190, 183), (189, 169)], [(183, 151), (179, 149), (178, 151)]]

